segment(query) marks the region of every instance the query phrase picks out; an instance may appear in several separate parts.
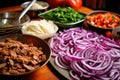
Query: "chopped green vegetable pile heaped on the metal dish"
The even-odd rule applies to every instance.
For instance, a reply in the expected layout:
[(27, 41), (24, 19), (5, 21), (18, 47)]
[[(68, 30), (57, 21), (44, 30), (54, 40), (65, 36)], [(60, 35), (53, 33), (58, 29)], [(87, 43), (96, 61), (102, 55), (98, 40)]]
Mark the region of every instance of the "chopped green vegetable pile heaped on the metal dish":
[(70, 7), (57, 7), (41, 15), (42, 18), (50, 19), (60, 23), (74, 23), (85, 18), (85, 15)]

